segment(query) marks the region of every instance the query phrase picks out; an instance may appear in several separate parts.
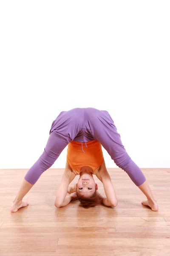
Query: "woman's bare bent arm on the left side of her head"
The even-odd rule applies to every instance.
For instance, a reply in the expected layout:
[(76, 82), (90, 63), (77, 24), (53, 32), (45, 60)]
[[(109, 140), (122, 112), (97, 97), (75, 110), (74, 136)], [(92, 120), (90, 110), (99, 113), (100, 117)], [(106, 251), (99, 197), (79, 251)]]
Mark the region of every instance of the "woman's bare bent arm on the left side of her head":
[(65, 171), (62, 176), (61, 183), (59, 185), (59, 189), (57, 191), (56, 199), (55, 199), (55, 206), (57, 208), (63, 207), (69, 204), (74, 198), (72, 195), (67, 195), (68, 185), (71, 183), (72, 180), (75, 178), (74, 172), (72, 172), (71, 167), (69, 166), (68, 162), (66, 162)]

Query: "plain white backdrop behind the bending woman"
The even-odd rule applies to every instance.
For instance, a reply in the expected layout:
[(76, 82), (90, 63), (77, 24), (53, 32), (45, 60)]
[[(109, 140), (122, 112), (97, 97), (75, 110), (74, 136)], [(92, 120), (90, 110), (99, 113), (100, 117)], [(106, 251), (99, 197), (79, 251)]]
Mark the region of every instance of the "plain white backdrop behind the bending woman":
[(107, 110), (139, 167), (170, 167), (169, 13), (169, 0), (1, 1), (0, 169), (30, 168), (76, 107)]

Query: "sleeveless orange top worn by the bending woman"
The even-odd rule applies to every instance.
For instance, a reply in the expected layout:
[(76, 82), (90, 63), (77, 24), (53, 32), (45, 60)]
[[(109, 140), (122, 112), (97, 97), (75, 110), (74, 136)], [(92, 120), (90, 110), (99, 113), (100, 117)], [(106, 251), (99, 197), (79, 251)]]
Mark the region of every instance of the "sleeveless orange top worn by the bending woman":
[[(85, 152), (83, 144), (87, 144)], [(96, 174), (103, 162), (102, 146), (97, 140), (81, 143), (72, 141), (68, 144), (67, 162), (75, 175), (80, 174), (82, 166), (90, 166), (93, 169), (93, 174)]]

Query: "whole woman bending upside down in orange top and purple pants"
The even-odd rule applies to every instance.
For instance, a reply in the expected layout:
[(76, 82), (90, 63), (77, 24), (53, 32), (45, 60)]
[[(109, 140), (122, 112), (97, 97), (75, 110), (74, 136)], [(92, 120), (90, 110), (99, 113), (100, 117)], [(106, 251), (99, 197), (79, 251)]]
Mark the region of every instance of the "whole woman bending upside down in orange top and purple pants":
[[(50, 136), (48, 138), (48, 142), (44, 148), (44, 151), (40, 158), (37, 160), (37, 162), (34, 163), (34, 165), (28, 170), (25, 179), (21, 184), (19, 192), (17, 193), (17, 196), (13, 202), (11, 212), (17, 212), (17, 210), (21, 207), (25, 207), (28, 205), (27, 203), (24, 203), (22, 201), (23, 197), (37, 182), (40, 175), (54, 164), (55, 160), (57, 160), (62, 150), (68, 144), (68, 148), (71, 145), (72, 147), (68, 149), (68, 165), (66, 164), (65, 173), (61, 181), (62, 185), (64, 184), (64, 187), (63, 189), (62, 185), (60, 185), (59, 187), (57, 198), (55, 201), (57, 207), (64, 206), (64, 204), (66, 205), (67, 202), (69, 203), (69, 200), (71, 198), (65, 198), (65, 196), (67, 194), (68, 185), (71, 180), (73, 180), (74, 175), (76, 174), (81, 174), (79, 182), (77, 183), (78, 197), (79, 194), (82, 193), (83, 198), (86, 198), (86, 201), (89, 200), (88, 197), (90, 193), (92, 194), (93, 192), (88, 192), (88, 190), (90, 191), (91, 189), (94, 189), (94, 181), (91, 179), (91, 172), (94, 172), (94, 174), (95, 172), (96, 174), (98, 173), (98, 177), (103, 182), (103, 185), (105, 183), (108, 183), (108, 180), (110, 180), (109, 177), (107, 179), (103, 178), (105, 176), (108, 176), (108, 174), (105, 171), (104, 162), (101, 158), (101, 154), (99, 157), (99, 152), (97, 153), (97, 149), (95, 149), (95, 154), (89, 153), (90, 155), (93, 155), (92, 159), (89, 160), (89, 157), (87, 157), (87, 155), (85, 157), (85, 154), (88, 154), (87, 152), (90, 152), (90, 150), (85, 152), (83, 149), (83, 143), (85, 144), (85, 147), (87, 147), (87, 149), (88, 146), (89, 148), (92, 148), (92, 146), (90, 146), (91, 143), (92, 145), (93, 143), (96, 143), (96, 146), (94, 146), (94, 148), (98, 147), (98, 150), (99, 147), (102, 145), (106, 149), (106, 151), (108, 151), (108, 154), (110, 154), (116, 165), (119, 166), (119, 168), (123, 169), (125, 172), (127, 172), (127, 175), (129, 175), (130, 179), (136, 184), (136, 186), (139, 187), (144, 195), (146, 195), (147, 200), (143, 201), (142, 204), (149, 206), (153, 211), (158, 210), (156, 200), (153, 198), (153, 194), (150, 190), (149, 185), (147, 184), (146, 178), (144, 177), (141, 169), (139, 169), (139, 167), (130, 159), (129, 155), (127, 154), (124, 146), (122, 145), (120, 135), (117, 132), (113, 119), (111, 118), (108, 111), (100, 111), (95, 108), (74, 108), (70, 111), (61, 112), (52, 123)], [(76, 145), (78, 147), (76, 147)], [(85, 157), (85, 159), (83, 160), (81, 160), (79, 156), (80, 148)], [(69, 150), (71, 150), (70, 152), (74, 151), (74, 158), (71, 157), (71, 153), (69, 153)], [(75, 152), (77, 152), (77, 154)], [(95, 163), (93, 163), (93, 161)], [(79, 165), (77, 163), (79, 163)], [(71, 167), (72, 164), (73, 166)], [(77, 169), (74, 168), (75, 166)], [(85, 182), (83, 180), (89, 181)], [(111, 181), (109, 181), (108, 184), (109, 185), (104, 185), (107, 198), (102, 199), (102, 202), (106, 205), (110, 204), (115, 206), (117, 204), (117, 201), (115, 199), (116, 197), (114, 189), (112, 188), (113, 186), (111, 184)], [(96, 192), (96, 187), (97, 186), (95, 185), (94, 193)], [(80, 190), (82, 190), (82, 192), (80, 192)]]

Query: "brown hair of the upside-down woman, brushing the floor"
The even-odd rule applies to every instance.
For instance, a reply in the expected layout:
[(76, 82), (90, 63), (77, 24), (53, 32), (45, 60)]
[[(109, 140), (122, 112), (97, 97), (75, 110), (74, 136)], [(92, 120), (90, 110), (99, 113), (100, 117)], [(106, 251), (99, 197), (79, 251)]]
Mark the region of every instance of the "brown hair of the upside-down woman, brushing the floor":
[(79, 193), (76, 190), (76, 185), (74, 188), (69, 187), (68, 188), (68, 193), (74, 193), (76, 192), (77, 198), (81, 203), (81, 206), (84, 208), (89, 208), (89, 207), (95, 207), (96, 205), (102, 204), (102, 195), (100, 195), (97, 190), (95, 190), (94, 194), (91, 195), (91, 197), (85, 197), (85, 195), (79, 195)]

